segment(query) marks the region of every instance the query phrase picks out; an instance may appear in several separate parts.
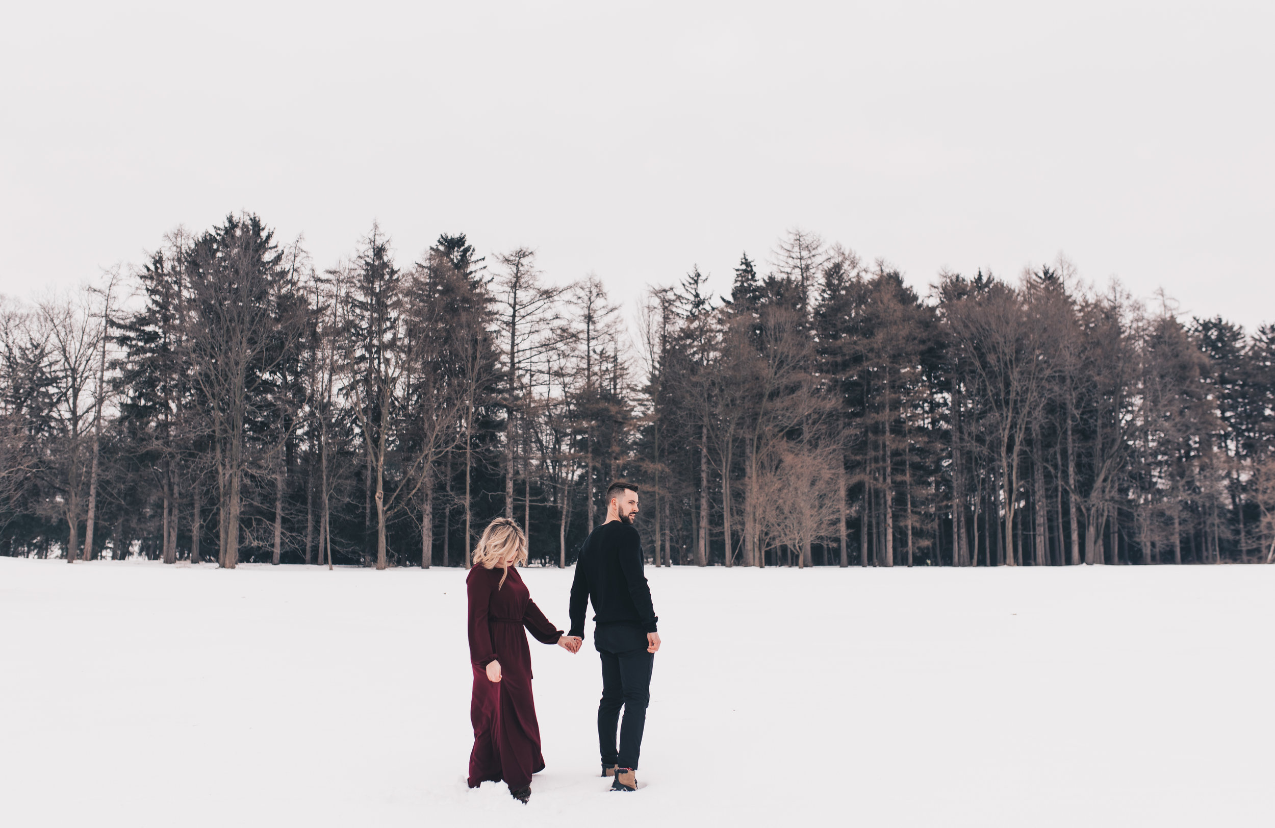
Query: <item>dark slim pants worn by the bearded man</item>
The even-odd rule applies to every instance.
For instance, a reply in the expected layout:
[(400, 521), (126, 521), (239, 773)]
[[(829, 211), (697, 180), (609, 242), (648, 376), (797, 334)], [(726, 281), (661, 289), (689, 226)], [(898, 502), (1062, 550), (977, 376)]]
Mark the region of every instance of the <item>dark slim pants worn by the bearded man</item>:
[[(598, 704), (598, 748), (602, 762), (636, 768), (638, 754), (641, 753), (641, 732), (646, 726), (650, 671), (655, 665), (655, 653), (646, 652), (646, 633), (627, 624), (598, 626), (593, 643), (602, 656), (602, 702)], [(623, 723), (620, 723), (620, 708), (625, 709)]]

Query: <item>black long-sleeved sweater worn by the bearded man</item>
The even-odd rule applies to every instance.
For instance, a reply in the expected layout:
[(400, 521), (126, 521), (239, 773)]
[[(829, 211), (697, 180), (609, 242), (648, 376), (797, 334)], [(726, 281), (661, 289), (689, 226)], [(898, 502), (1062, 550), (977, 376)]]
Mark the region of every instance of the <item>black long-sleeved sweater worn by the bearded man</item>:
[(655, 632), (655, 609), (641, 572), (641, 537), (622, 521), (603, 523), (584, 541), (571, 582), (571, 632), (584, 638), (584, 611), (593, 601), (598, 624), (635, 624)]

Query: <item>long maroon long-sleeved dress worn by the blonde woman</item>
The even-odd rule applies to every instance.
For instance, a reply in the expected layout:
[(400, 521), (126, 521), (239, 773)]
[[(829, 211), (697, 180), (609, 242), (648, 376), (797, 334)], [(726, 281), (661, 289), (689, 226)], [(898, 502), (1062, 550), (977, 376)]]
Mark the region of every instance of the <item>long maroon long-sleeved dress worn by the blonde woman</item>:
[[(518, 569), (497, 589), (499, 568), (474, 566), (465, 578), (469, 592), (469, 661), (474, 672), (469, 720), (474, 749), (469, 754), (469, 787), (504, 780), (511, 788), (527, 787), (544, 769), (541, 728), (532, 699), (532, 652), (525, 626), (537, 640), (556, 644), (553, 629), (532, 601)], [(487, 665), (500, 662), (500, 681), (487, 679)]]

